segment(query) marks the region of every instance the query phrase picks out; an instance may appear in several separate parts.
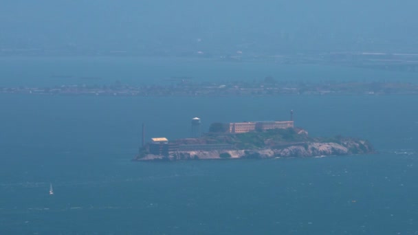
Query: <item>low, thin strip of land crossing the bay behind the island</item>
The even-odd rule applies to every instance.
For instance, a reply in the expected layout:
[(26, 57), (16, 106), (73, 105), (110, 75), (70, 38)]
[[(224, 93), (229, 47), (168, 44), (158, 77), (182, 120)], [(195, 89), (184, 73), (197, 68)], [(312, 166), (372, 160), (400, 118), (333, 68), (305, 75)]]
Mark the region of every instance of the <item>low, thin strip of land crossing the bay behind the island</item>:
[(191, 82), (158, 85), (61, 85), (54, 87), (0, 87), (0, 93), (74, 96), (281, 96), (281, 95), (417, 95), (411, 82)]

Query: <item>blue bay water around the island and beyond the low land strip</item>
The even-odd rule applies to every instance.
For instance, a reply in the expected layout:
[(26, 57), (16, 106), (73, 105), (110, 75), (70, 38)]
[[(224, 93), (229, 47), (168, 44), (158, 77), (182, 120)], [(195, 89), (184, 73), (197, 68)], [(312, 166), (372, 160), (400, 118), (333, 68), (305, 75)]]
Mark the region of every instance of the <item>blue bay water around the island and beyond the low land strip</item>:
[[(100, 76), (105, 59), (17, 58), (16, 64), (2, 60), (16, 68), (7, 71), (12, 76), (5, 83), (36, 84), (36, 78), (19, 75), (20, 65), (26, 71), (37, 69), (39, 82), (54, 85), (60, 78), (46, 75), (48, 65), (67, 68), (61, 74), (75, 74), (78, 65), (91, 60), (89, 76)], [(117, 63), (120, 70), (136, 69), (123, 61)], [(158, 77), (176, 74), (173, 67), (178, 74), (188, 71), (184, 61), (153, 61), (147, 63), (166, 68), (166, 75)], [(194, 68), (196, 74), (190, 72), (199, 78), (214, 76), (205, 74), (211, 66), (214, 71), (229, 69), (231, 78), (233, 72), (243, 73), (217, 62), (190, 63), (202, 65), (201, 73), (199, 67)], [(266, 68), (281, 73), (274, 64), (252, 65), (254, 74), (262, 76)], [(306, 76), (313, 71), (311, 66), (287, 69)], [(345, 68), (316, 69), (349, 79)], [(393, 79), (415, 75), (362, 69), (353, 73), (364, 78), (375, 73), (373, 79), (384, 73)], [(152, 76), (126, 80), (148, 82)], [(1, 94), (0, 232), (417, 234), (417, 101), (416, 96), (191, 99)], [(290, 109), (296, 126), (307, 128), (310, 135), (362, 137), (380, 153), (259, 161), (130, 161), (140, 143), (142, 123), (146, 137), (173, 139), (190, 135), (195, 116), (207, 130), (217, 121), (287, 120)], [(50, 183), (53, 196), (48, 194)]]

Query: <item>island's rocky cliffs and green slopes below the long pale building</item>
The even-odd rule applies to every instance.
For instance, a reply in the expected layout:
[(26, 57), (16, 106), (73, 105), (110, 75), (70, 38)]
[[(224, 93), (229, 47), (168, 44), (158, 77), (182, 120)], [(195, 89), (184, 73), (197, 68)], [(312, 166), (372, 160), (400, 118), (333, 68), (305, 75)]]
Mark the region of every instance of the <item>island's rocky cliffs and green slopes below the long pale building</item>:
[(234, 135), (210, 133), (196, 139), (177, 139), (173, 143), (181, 147), (168, 155), (144, 152), (135, 160), (267, 159), (375, 153), (373, 146), (365, 140), (341, 136), (308, 137), (307, 131), (301, 128)]

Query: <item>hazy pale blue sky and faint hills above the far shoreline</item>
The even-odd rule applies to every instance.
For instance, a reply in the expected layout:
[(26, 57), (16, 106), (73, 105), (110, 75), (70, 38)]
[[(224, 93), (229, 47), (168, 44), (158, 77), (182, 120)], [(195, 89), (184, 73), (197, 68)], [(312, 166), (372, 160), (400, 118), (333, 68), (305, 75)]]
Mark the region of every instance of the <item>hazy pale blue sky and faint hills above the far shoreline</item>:
[(404, 46), (418, 42), (417, 9), (416, 0), (15, 0), (1, 3), (0, 47)]

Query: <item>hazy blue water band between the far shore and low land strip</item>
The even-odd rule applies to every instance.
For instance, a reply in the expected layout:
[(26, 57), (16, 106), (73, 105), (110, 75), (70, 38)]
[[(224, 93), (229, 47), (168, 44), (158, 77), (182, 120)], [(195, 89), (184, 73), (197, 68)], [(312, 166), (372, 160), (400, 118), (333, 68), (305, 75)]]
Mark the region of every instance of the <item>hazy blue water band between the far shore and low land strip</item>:
[[(0, 57), (2, 87), (59, 85), (167, 85), (167, 79), (191, 82), (260, 82), (272, 76), (282, 82), (413, 82), (416, 74), (331, 65), (283, 65), (228, 62), (208, 58), (161, 57)], [(175, 83), (174, 83), (175, 84)]]

